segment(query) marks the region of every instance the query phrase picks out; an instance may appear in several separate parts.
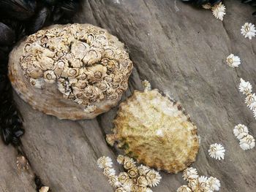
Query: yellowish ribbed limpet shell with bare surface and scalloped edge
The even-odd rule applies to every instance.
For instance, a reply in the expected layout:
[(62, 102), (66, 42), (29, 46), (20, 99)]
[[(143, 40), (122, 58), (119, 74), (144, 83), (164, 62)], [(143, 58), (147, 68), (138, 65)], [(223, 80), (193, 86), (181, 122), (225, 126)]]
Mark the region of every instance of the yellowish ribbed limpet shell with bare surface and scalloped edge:
[(108, 143), (118, 141), (118, 147), (140, 163), (177, 173), (195, 161), (199, 148), (196, 126), (180, 104), (157, 90), (135, 91), (120, 104), (113, 123)]

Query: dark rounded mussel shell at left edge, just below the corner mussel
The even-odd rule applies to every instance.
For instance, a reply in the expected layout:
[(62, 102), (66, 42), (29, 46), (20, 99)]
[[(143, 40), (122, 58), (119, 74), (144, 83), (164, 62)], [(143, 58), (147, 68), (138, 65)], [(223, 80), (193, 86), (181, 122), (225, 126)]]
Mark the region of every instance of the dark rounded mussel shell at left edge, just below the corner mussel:
[(0, 45), (12, 45), (15, 42), (15, 32), (4, 23), (0, 23)]

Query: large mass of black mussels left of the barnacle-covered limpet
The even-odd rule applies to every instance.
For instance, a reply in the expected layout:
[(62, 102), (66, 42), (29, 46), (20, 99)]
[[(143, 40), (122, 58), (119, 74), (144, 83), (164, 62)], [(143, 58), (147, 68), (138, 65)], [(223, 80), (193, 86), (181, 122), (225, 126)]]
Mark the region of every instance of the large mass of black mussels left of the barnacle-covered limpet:
[(6, 145), (20, 145), (22, 121), (7, 77), (8, 55), (15, 42), (53, 23), (71, 23), (79, 0), (0, 1), (0, 132)]

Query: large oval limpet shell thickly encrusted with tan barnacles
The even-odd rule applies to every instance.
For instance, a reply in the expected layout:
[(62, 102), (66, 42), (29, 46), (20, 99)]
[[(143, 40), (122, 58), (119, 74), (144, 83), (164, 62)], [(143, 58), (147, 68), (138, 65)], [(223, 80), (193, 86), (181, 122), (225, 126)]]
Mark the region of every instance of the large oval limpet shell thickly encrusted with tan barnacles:
[(90, 24), (55, 25), (10, 54), (13, 87), (34, 109), (61, 119), (94, 118), (127, 90), (132, 61), (124, 45)]

